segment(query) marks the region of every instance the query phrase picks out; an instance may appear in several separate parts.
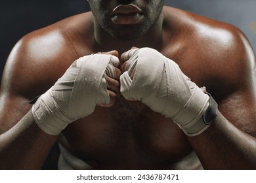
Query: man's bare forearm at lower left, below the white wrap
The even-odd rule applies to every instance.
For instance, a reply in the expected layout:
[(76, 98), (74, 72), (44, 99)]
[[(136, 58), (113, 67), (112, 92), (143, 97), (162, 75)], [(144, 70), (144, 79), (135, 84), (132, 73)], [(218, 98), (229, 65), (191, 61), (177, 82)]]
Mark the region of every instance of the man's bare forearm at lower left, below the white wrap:
[(0, 169), (41, 169), (57, 136), (47, 135), (29, 111), (12, 129), (0, 135)]

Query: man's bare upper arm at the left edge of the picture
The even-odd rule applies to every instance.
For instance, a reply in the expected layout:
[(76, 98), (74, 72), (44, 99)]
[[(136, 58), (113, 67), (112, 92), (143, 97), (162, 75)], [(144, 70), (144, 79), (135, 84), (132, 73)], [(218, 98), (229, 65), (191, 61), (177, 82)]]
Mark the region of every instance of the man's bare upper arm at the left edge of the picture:
[(9, 130), (30, 110), (32, 83), (24, 42), (19, 41), (7, 59), (0, 90), (0, 133)]

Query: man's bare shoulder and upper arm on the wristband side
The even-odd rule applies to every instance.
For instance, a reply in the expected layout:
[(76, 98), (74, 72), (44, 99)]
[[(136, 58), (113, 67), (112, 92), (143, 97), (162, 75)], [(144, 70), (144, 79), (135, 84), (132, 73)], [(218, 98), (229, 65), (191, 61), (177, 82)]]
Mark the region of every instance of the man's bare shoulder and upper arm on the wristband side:
[(178, 26), (168, 45), (179, 45), (174, 60), (184, 74), (207, 88), (232, 124), (255, 133), (255, 53), (244, 33), (234, 25), (175, 8), (167, 16), (169, 27)]

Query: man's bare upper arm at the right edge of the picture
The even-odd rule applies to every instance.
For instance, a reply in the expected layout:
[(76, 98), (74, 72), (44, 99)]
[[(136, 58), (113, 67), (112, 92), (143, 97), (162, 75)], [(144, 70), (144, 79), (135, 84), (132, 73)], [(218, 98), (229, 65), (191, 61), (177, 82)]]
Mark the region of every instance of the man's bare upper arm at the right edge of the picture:
[(230, 44), (220, 54), (213, 95), (223, 116), (256, 137), (255, 53), (245, 35), (232, 27)]

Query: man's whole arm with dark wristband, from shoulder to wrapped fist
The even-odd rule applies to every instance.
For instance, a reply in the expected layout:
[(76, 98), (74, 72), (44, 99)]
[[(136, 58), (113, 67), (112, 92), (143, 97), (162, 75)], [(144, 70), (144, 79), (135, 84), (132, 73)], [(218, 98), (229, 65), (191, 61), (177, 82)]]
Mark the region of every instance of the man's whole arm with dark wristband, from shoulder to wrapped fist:
[[(226, 31), (229, 37), (224, 37), (222, 42), (219, 37), (209, 39), (202, 33), (197, 35), (198, 42), (207, 39), (207, 43), (203, 42), (207, 48), (201, 44), (197, 45), (202, 54), (194, 60), (196, 65), (204, 69), (199, 69), (200, 76), (192, 76), (197, 84), (206, 86), (207, 91), (219, 104), (219, 115), (206, 130), (203, 117), (200, 116), (201, 111), (206, 111), (207, 105), (201, 105), (206, 94), (199, 93), (198, 86), (182, 75), (173, 61), (166, 61), (167, 58), (150, 48), (134, 49), (121, 56), (125, 61), (125, 65), (122, 66), (124, 73), (120, 78), (121, 93), (126, 99), (140, 100), (155, 112), (171, 118), (187, 135), (194, 136), (188, 139), (205, 169), (256, 168), (255, 54), (244, 35), (236, 29), (233, 31)], [(201, 37), (203, 40), (200, 40)], [(223, 46), (223, 43), (226, 44)], [(195, 50), (196, 54), (198, 50)], [(183, 52), (182, 55), (183, 60), (194, 61), (192, 54)], [(201, 63), (198, 63), (198, 60)], [(153, 70), (146, 65), (154, 65), (157, 69)], [(190, 73), (187, 71), (198, 69), (189, 66), (192, 65), (186, 62), (186, 67), (183, 68), (188, 74)], [(147, 70), (148, 68), (152, 73)], [(173, 69), (172, 72), (169, 72), (170, 68)], [(206, 72), (203, 73), (204, 71)], [(162, 73), (166, 73), (166, 76)], [(162, 78), (165, 77), (170, 79), (163, 81)], [(144, 82), (145, 80), (147, 82)], [(192, 90), (198, 93), (190, 95), (189, 92)], [(199, 97), (193, 99), (194, 96)]]

